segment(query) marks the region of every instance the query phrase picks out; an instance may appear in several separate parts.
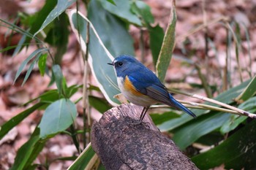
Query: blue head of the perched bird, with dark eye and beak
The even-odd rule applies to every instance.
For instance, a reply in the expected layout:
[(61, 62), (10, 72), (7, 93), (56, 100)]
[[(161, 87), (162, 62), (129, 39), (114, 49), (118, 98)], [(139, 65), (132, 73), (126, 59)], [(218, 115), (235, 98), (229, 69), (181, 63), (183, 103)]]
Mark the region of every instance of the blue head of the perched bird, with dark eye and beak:
[(112, 63), (108, 64), (115, 67), (117, 77), (125, 77), (127, 74), (143, 67), (140, 61), (130, 55), (120, 55)]

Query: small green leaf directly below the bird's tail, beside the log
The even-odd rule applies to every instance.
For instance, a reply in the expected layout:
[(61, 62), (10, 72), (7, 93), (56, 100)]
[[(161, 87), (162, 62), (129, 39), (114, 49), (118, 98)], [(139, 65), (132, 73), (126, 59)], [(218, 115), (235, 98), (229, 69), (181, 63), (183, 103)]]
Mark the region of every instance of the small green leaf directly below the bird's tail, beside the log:
[(164, 112), (162, 114), (152, 113), (150, 114), (153, 122), (155, 125), (159, 125), (164, 123), (167, 120), (175, 119), (181, 117), (180, 115), (176, 114), (176, 112)]

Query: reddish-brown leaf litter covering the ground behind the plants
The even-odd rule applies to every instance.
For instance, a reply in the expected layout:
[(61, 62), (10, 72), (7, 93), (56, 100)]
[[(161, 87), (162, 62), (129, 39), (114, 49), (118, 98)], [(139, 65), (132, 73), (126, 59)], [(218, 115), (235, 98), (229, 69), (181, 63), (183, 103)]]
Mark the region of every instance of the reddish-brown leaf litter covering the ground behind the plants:
[[(238, 74), (238, 64), (235, 53), (235, 46), (230, 47), (230, 86), (238, 85), (241, 80), (248, 80), (248, 72), (256, 73), (256, 0), (178, 0), (176, 1), (177, 23), (176, 23), (176, 47), (174, 55), (167, 71), (166, 82), (171, 87), (189, 90), (206, 96), (203, 88), (192, 90), (189, 83), (201, 84), (195, 66), (186, 64), (189, 60), (200, 66), (202, 73), (206, 76), (209, 85), (222, 85), (222, 75), (225, 72), (227, 56), (227, 28), (225, 21), (236, 20), (240, 26), (241, 49), (239, 60), (241, 64), (241, 75)], [(146, 0), (151, 7), (151, 12), (155, 17), (155, 23), (159, 23), (162, 28), (167, 27), (170, 19), (171, 2), (166, 0)], [(9, 20), (10, 16), (15, 16), (19, 11), (37, 12), (43, 5), (43, 1), (8, 1), (0, 6), (0, 18)], [(12, 9), (12, 10), (10, 10)], [(222, 21), (222, 22), (220, 22)], [(203, 24), (207, 26), (205, 29)], [(5, 47), (7, 29), (0, 26), (0, 47)], [(249, 40), (246, 39), (246, 31), (249, 32)], [(206, 38), (208, 35), (208, 57), (206, 55)], [(135, 54), (140, 58), (139, 41), (140, 30), (134, 26), (130, 27), (130, 34), (135, 41)], [(20, 34), (12, 38), (12, 45), (17, 45)], [(148, 34), (145, 33), (144, 39), (146, 66), (154, 69), (152, 65), (151, 52), (148, 45)], [(250, 45), (250, 50), (248, 47)], [(0, 53), (0, 125), (11, 117), (14, 117), (31, 105), (22, 106), (26, 101), (31, 100), (42, 94), (45, 90), (56, 88), (48, 87), (50, 78), (41, 77), (38, 68), (35, 68), (26, 84), (21, 86), (23, 80), (18, 79), (15, 84), (15, 74), (20, 63), (31, 54), (36, 47), (29, 47), (17, 56), (12, 58), (12, 52)], [(61, 66), (63, 74), (67, 79), (68, 85), (81, 85), (83, 78), (83, 65), (79, 54), (78, 42), (72, 34), (69, 39), (69, 47), (64, 55)], [(26, 72), (23, 72), (23, 77)], [(183, 82), (183, 83), (181, 83)], [(96, 85), (91, 78), (90, 83)], [(218, 87), (222, 89), (223, 87)], [(222, 91), (222, 90), (220, 90)], [(219, 91), (216, 92), (216, 94)], [(75, 94), (74, 98), (82, 96), (82, 92)], [(184, 96), (178, 96), (184, 98)], [(186, 98), (195, 101), (194, 98)], [(78, 127), (83, 125), (82, 105), (78, 104)], [(99, 120), (100, 114), (93, 110), (93, 119)], [(0, 141), (0, 169), (10, 169), (19, 147), (22, 146), (34, 131), (39, 123), (42, 112), (37, 111), (23, 120), (19, 125), (10, 131), (4, 139)], [(42, 150), (37, 163), (53, 161), (55, 158), (68, 157), (76, 154), (75, 145), (67, 135), (56, 135), (50, 139), (46, 147)], [(47, 158), (47, 160), (46, 160)], [(50, 163), (50, 169), (67, 169), (72, 161), (54, 161)], [(218, 169), (222, 169), (219, 167)]]

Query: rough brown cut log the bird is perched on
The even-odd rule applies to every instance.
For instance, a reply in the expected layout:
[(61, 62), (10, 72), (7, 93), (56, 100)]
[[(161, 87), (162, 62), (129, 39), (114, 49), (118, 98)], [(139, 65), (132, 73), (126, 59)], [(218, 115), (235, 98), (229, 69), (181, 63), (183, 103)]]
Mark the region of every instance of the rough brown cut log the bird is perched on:
[[(91, 145), (106, 169), (197, 169), (151, 117), (138, 124), (142, 107), (122, 104), (94, 121)], [(185, 139), (184, 139), (185, 140)]]

